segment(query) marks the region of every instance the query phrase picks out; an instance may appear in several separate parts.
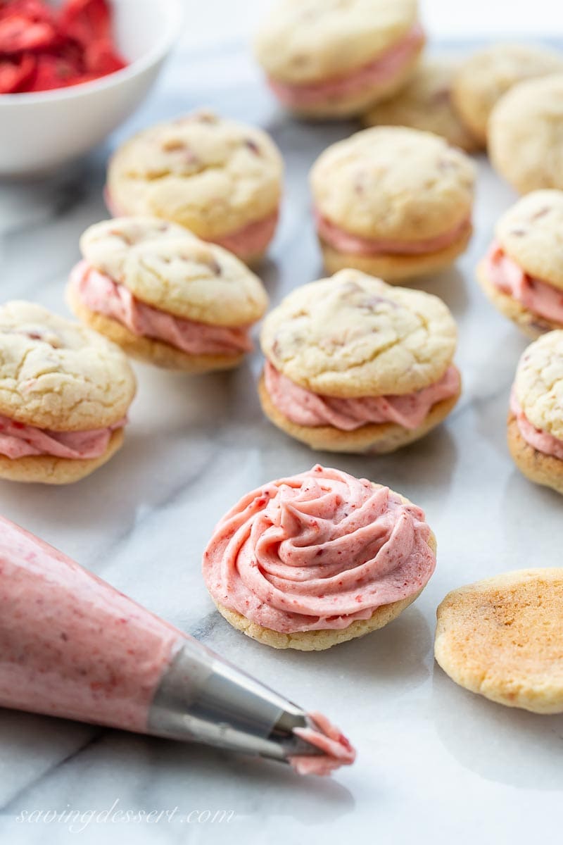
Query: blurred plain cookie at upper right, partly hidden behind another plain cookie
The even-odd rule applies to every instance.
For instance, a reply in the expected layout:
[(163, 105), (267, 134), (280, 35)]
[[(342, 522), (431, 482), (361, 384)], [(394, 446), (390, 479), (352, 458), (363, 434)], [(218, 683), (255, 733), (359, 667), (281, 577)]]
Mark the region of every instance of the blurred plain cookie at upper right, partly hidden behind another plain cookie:
[(453, 79), (454, 106), (468, 129), (487, 143), (487, 123), (495, 103), (524, 79), (563, 72), (563, 57), (544, 46), (492, 44), (474, 52)]

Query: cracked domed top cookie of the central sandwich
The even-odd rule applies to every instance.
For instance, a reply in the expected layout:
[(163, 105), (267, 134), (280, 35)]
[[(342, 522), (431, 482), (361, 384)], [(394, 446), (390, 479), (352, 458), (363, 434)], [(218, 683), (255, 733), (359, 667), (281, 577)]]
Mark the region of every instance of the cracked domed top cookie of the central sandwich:
[(421, 390), (441, 379), (456, 342), (441, 299), (359, 270), (296, 288), (262, 331), (275, 368), (307, 390), (339, 397)]

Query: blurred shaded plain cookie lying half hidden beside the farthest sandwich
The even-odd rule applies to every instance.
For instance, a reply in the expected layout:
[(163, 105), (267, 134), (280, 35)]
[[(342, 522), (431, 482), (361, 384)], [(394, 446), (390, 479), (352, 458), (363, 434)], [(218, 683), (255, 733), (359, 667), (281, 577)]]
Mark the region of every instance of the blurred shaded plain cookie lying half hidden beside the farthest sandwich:
[(364, 115), (367, 126), (408, 126), (433, 132), (466, 152), (481, 144), (469, 132), (452, 105), (452, 75), (458, 62), (446, 57), (423, 59), (414, 75), (390, 100)]

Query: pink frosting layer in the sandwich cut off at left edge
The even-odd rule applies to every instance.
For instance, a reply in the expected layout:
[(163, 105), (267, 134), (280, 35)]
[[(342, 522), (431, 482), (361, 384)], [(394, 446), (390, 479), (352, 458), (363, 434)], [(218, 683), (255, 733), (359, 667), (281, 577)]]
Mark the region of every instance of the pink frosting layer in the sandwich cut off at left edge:
[(24, 458), (52, 455), (56, 458), (99, 458), (106, 451), (111, 433), (123, 428), (126, 419), (108, 428), (89, 431), (47, 431), (0, 416), (0, 455)]

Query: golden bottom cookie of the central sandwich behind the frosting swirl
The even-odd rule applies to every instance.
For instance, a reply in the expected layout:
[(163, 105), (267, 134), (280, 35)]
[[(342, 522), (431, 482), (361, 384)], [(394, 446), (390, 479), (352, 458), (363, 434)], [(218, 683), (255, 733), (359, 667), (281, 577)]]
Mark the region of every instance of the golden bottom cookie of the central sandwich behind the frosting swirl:
[(311, 449), (326, 452), (371, 453), (386, 455), (402, 446), (413, 443), (436, 428), (452, 411), (459, 399), (460, 390), (455, 396), (436, 402), (418, 428), (404, 428), (398, 423), (367, 423), (355, 428), (354, 431), (342, 431), (331, 425), (304, 426), (292, 423), (273, 404), (266, 390), (266, 383), (262, 375), (258, 382), (258, 395), (263, 412), (271, 423), (281, 428), (290, 437), (311, 446)]

